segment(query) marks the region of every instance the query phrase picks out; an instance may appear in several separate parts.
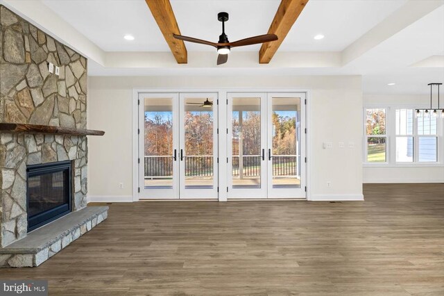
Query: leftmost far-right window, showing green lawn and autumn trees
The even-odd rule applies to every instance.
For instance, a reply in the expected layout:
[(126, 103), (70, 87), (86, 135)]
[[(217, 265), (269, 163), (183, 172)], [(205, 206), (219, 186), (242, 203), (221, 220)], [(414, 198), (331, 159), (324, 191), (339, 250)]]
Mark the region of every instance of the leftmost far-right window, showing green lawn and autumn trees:
[(385, 163), (386, 157), (386, 109), (366, 109), (366, 161)]

